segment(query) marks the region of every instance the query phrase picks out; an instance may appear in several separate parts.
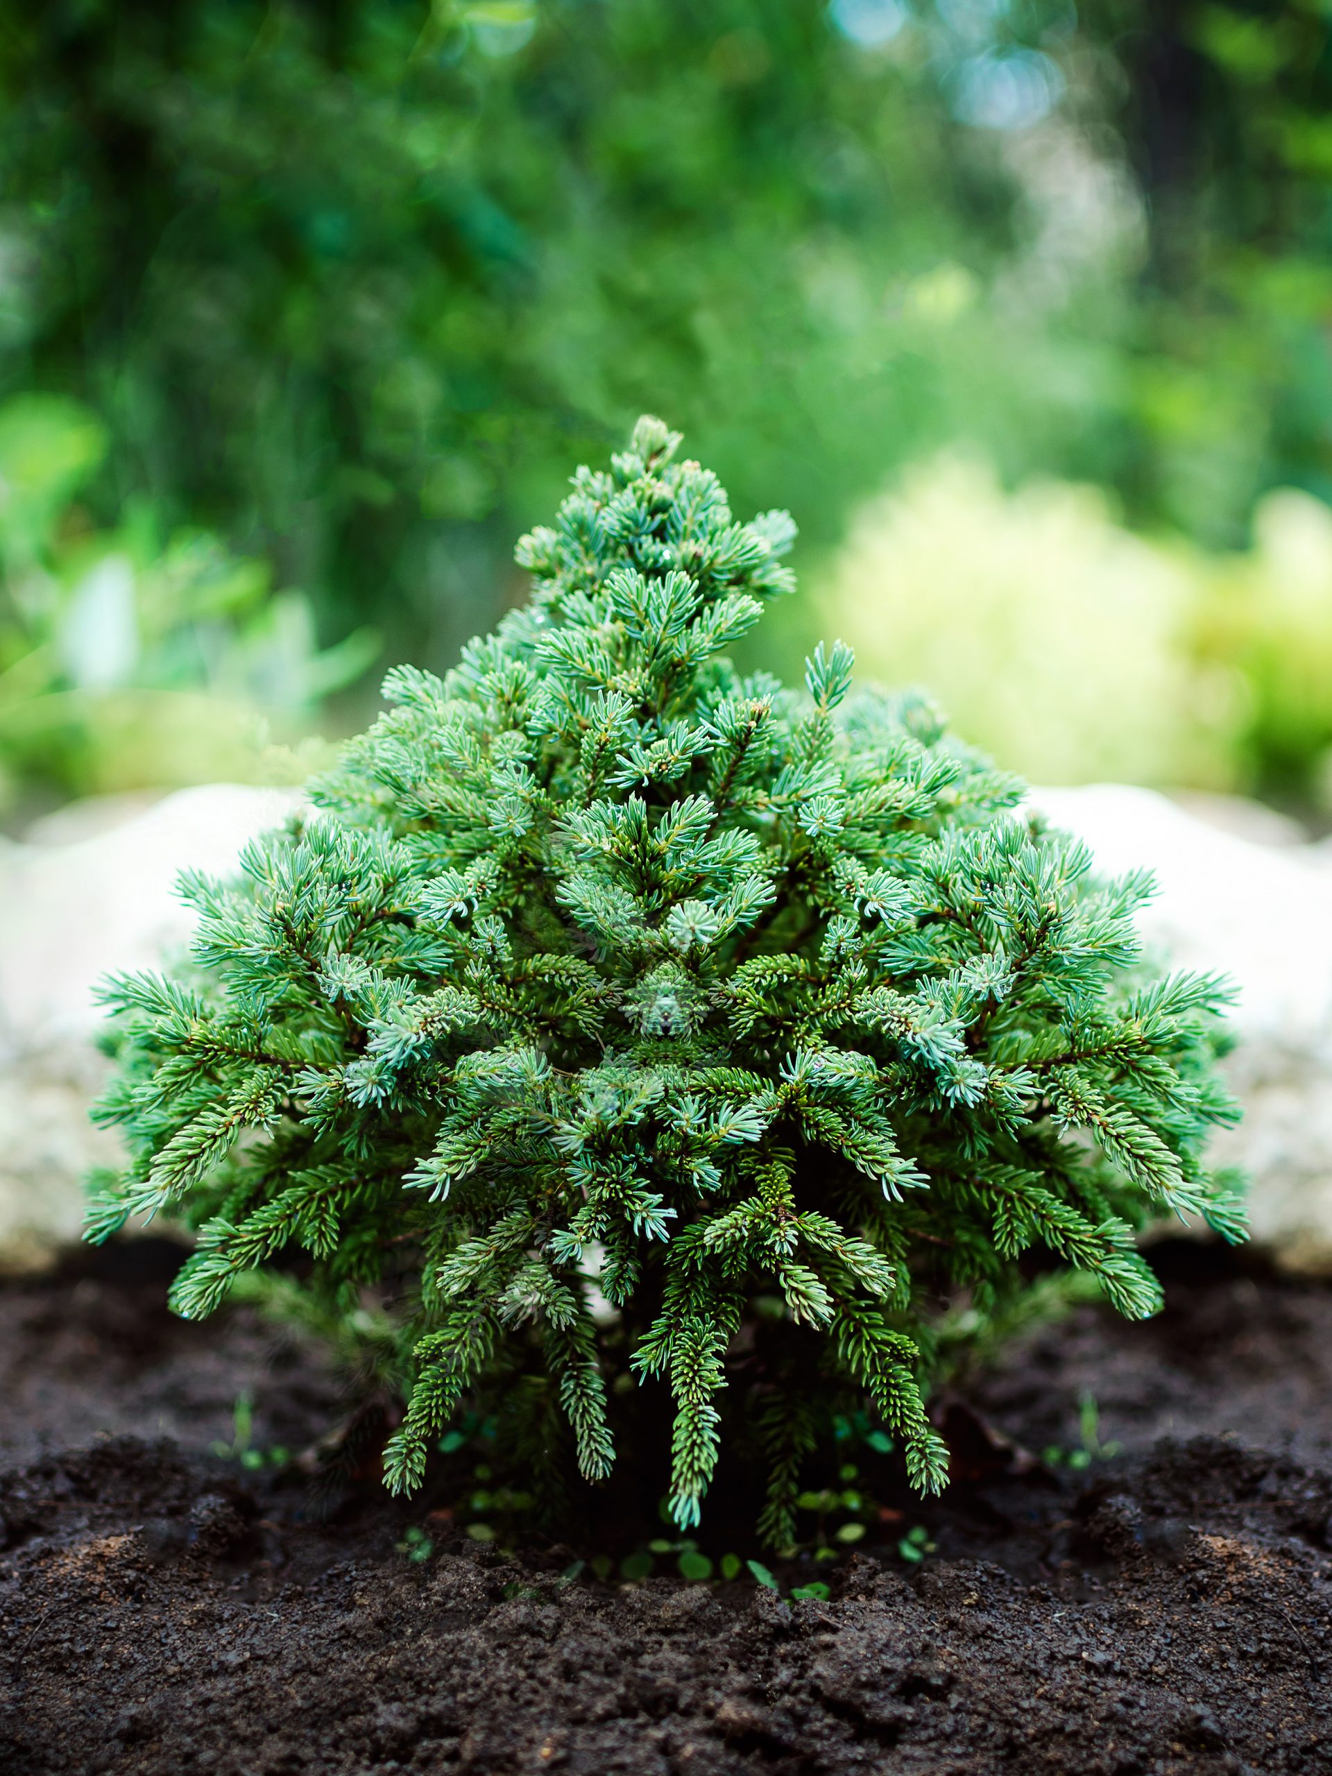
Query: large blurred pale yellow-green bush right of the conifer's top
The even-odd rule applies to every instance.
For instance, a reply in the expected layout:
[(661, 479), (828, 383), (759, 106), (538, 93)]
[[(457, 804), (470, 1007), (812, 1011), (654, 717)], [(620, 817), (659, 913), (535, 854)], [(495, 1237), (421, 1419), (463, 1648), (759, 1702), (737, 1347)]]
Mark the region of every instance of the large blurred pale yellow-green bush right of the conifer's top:
[(861, 671), (927, 687), (1035, 781), (1229, 780), (1234, 687), (1190, 657), (1188, 565), (1094, 488), (920, 465), (860, 513), (819, 602)]

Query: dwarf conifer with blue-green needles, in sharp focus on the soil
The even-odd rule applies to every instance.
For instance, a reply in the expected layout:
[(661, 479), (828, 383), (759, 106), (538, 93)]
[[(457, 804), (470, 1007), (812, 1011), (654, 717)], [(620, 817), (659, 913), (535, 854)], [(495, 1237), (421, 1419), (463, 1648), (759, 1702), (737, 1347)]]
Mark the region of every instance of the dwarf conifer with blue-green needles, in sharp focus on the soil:
[(185, 883), (188, 973), (107, 991), (131, 1158), (91, 1233), (188, 1218), (190, 1318), (293, 1249), (329, 1312), (385, 1302), (394, 1490), (478, 1401), (602, 1481), (661, 1391), (677, 1524), (725, 1431), (783, 1543), (836, 1412), (943, 1485), (943, 1300), (1011, 1311), (1043, 1247), (1151, 1314), (1144, 1218), (1238, 1236), (1224, 993), (1142, 973), (1144, 877), (1098, 883), (924, 700), (852, 693), (840, 645), (803, 693), (728, 662), (794, 526), (678, 442), (581, 469), (531, 600), (392, 671), (311, 812)]

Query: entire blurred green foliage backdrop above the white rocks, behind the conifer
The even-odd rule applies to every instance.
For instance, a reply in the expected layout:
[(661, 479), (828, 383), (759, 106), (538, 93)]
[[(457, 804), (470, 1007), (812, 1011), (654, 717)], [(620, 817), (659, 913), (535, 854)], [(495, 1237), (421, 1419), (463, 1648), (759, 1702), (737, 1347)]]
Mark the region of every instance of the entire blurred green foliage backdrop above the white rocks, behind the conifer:
[(446, 666), (643, 408), (774, 666), (1328, 806), (1323, 0), (0, 0), (0, 99), (11, 826)]

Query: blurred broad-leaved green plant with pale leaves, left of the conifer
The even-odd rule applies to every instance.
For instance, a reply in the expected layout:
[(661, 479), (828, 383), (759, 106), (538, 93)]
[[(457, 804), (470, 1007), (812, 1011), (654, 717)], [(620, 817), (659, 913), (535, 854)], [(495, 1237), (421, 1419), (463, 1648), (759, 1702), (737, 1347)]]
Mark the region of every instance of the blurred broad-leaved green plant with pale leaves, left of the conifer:
[(377, 652), (320, 652), (309, 602), (217, 538), (162, 538), (146, 504), (76, 504), (105, 432), (87, 408), (0, 407), (0, 813), (41, 799), (281, 773), (272, 742)]

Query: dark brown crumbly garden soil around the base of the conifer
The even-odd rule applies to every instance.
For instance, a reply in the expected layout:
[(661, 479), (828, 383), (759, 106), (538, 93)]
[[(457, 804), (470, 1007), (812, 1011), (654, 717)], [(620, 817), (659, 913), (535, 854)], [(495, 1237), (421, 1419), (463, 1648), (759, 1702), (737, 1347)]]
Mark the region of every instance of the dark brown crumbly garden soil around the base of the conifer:
[[(1332, 1771), (1332, 1291), (1158, 1249), (945, 1407), (963, 1472), (836, 1563), (600, 1582), (210, 1453), (341, 1410), (316, 1352), (165, 1311), (160, 1241), (0, 1288), (0, 1769), (773, 1776)], [(1110, 1460), (1078, 1449), (1094, 1394)], [(1014, 1447), (1016, 1446), (1016, 1447)], [(876, 1529), (876, 1534), (879, 1533)], [(421, 1542), (412, 1547), (419, 1552)], [(572, 1575), (570, 1575), (572, 1574)]]

